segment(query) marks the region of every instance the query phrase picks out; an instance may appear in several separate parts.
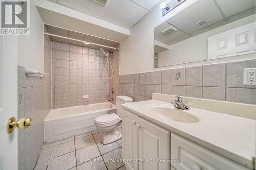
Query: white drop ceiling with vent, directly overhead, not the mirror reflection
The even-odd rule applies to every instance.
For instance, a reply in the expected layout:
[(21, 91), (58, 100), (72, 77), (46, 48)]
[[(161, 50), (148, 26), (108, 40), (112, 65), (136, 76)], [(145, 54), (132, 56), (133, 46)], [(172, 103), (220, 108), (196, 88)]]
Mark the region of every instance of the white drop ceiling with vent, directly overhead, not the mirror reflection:
[(160, 0), (108, 0), (102, 6), (93, 0), (49, 0), (79, 12), (129, 29), (137, 23)]

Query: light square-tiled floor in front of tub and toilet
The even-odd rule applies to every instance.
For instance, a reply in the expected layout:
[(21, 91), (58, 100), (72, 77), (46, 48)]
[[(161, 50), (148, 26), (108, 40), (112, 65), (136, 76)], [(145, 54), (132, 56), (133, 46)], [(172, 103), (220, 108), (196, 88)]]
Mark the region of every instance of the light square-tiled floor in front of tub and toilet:
[(125, 170), (123, 163), (103, 162), (108, 159), (122, 159), (122, 139), (103, 145), (100, 142), (100, 133), (91, 131), (45, 143), (34, 169)]

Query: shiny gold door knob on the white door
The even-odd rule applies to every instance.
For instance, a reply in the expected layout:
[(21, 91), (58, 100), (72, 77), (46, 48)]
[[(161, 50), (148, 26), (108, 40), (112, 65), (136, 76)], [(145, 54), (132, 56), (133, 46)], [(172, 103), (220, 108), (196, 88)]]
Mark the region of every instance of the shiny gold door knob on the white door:
[(7, 132), (12, 133), (12, 131), (16, 127), (19, 129), (28, 128), (31, 125), (31, 123), (32, 123), (32, 119), (30, 117), (23, 117), (18, 119), (17, 121), (15, 120), (14, 117), (11, 117), (7, 123)]

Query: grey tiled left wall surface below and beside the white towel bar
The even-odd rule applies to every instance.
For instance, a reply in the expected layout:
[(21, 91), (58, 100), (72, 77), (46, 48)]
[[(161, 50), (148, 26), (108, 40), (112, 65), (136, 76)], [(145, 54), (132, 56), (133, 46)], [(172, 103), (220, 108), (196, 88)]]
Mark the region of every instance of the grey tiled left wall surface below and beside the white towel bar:
[(18, 66), (18, 118), (29, 116), (32, 125), (18, 129), (18, 169), (32, 170), (44, 144), (44, 119), (51, 109), (51, 40), (44, 38), (44, 72), (49, 77), (25, 75)]

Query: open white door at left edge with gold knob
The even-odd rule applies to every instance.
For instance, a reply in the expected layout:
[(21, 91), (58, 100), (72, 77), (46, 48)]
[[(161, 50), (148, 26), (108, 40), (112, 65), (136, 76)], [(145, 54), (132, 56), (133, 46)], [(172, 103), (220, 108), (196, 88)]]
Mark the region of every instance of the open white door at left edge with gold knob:
[(18, 169), (17, 129), (7, 133), (10, 117), (17, 119), (17, 36), (0, 36), (0, 169)]

